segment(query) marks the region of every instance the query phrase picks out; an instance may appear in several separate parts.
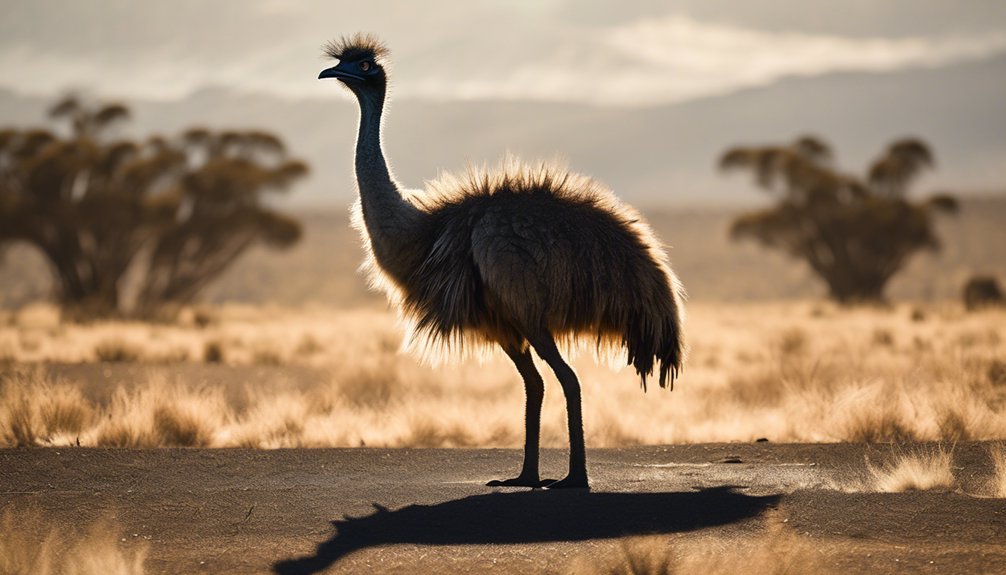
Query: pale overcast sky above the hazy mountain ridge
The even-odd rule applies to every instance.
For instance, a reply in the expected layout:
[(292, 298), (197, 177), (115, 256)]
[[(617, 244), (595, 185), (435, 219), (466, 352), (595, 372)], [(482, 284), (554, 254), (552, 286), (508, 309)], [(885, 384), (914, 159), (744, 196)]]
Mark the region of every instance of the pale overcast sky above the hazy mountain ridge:
[[(791, 75), (946, 66), (1006, 51), (999, 0), (308, 2), (3, 0), (0, 87), (178, 100), (331, 98), (319, 46), (377, 33), (395, 98), (651, 106)], [(400, 70), (400, 71), (399, 71)]]

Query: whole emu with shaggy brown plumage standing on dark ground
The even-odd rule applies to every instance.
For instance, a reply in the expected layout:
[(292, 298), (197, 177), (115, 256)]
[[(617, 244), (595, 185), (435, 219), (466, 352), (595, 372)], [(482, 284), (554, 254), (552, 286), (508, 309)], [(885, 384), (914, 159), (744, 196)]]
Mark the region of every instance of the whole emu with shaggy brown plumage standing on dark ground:
[[(356, 34), (330, 42), (336, 78), (360, 108), (353, 207), (371, 285), (385, 292), (409, 327), (406, 344), (428, 355), (484, 352), (513, 361), (526, 393), (520, 473), (493, 487), (589, 488), (580, 387), (559, 346), (628, 364), (673, 387), (684, 359), (684, 290), (653, 232), (601, 184), (549, 163), (506, 158), (495, 169), (444, 175), (425, 192), (395, 181), (381, 146), (388, 51)], [(544, 383), (533, 351), (565, 396), (569, 466), (541, 481), (538, 442)]]

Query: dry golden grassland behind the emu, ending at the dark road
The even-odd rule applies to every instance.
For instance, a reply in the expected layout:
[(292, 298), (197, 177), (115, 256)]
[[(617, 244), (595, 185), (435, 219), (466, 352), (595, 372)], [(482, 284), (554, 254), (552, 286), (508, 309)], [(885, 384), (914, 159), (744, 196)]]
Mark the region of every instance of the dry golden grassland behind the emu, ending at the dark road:
[[(1001, 200), (965, 202), (889, 305), (853, 308), (821, 299), (799, 262), (729, 243), (725, 215), (655, 213), (692, 295), (685, 372), (674, 391), (644, 393), (631, 370), (579, 350), (589, 444), (1003, 438), (1006, 312), (967, 312), (960, 290), (1006, 272), (1004, 213)], [(502, 353), (421, 363), (356, 271), (345, 219), (308, 221), (294, 252), (252, 253), (221, 278), (214, 298), (229, 303), (171, 321), (75, 323), (41, 303), (0, 312), (0, 442), (520, 446), (523, 389)], [(8, 298), (48, 289), (25, 248), (2, 269)], [(564, 406), (550, 381), (542, 437), (558, 447)]]

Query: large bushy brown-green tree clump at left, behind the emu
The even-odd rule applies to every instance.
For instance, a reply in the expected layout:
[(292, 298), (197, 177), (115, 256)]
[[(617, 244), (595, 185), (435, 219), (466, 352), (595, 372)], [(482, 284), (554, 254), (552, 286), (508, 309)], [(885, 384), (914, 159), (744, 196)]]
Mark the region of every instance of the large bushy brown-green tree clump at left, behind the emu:
[(191, 129), (174, 138), (112, 139), (121, 104), (66, 98), (49, 111), (68, 135), (0, 131), (0, 246), (26, 241), (48, 260), (67, 310), (122, 313), (192, 301), (256, 242), (294, 244), (300, 224), (264, 203), (307, 174), (277, 137)]

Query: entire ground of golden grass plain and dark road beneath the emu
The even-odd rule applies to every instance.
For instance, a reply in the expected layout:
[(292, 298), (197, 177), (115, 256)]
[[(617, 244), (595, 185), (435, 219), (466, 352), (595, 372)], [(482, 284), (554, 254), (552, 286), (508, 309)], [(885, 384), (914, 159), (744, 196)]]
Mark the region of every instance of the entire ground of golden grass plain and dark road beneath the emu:
[(690, 353), (644, 392), (579, 350), (589, 494), (483, 487), (519, 465), (516, 371), (402, 353), (341, 215), (160, 323), (64, 321), (27, 303), (37, 258), (8, 253), (0, 573), (999, 572), (1006, 310), (959, 290), (1006, 271), (1004, 212), (967, 203), (890, 305), (852, 308), (728, 244), (726, 216), (648, 212), (692, 293)]

